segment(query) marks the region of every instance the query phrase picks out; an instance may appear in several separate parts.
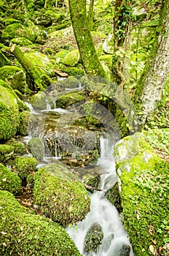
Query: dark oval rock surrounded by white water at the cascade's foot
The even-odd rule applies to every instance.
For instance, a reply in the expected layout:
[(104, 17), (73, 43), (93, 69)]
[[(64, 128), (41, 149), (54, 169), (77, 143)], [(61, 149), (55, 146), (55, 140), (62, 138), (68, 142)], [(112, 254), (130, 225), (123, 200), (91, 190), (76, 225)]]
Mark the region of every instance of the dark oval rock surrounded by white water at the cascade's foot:
[(87, 231), (84, 239), (84, 252), (96, 252), (103, 240), (103, 230), (98, 223), (93, 224), (90, 230)]

